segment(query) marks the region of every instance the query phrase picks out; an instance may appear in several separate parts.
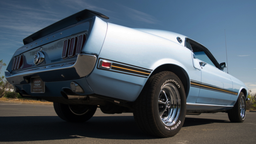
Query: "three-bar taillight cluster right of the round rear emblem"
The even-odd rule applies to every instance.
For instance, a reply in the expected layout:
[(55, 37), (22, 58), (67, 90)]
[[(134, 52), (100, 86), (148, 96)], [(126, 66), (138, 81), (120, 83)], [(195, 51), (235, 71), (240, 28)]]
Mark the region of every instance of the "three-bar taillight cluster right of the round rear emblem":
[(76, 54), (80, 54), (85, 44), (85, 40), (85, 34), (64, 40), (61, 58), (65, 59), (67, 57), (73, 57)]

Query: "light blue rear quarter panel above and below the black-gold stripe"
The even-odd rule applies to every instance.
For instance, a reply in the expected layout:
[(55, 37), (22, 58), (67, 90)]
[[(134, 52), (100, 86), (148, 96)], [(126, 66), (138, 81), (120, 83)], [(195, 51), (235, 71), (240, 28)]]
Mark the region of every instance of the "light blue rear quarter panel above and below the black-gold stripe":
[[(194, 77), (193, 71), (196, 71), (191, 51), (186, 47), (153, 34), (111, 23), (108, 23), (99, 58), (152, 71), (163, 64), (175, 64), (189, 72), (189, 77)], [(195, 77), (201, 78), (201, 75)], [(87, 77), (88, 84), (96, 94), (128, 101), (136, 100), (147, 79), (98, 68), (94, 68)]]

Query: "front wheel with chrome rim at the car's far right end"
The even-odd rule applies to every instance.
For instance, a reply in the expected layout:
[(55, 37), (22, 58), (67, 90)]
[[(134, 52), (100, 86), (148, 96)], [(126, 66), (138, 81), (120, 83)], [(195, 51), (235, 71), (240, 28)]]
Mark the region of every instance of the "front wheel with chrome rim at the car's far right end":
[(236, 104), (231, 110), (227, 111), (230, 122), (243, 123), (246, 115), (245, 96), (240, 92)]

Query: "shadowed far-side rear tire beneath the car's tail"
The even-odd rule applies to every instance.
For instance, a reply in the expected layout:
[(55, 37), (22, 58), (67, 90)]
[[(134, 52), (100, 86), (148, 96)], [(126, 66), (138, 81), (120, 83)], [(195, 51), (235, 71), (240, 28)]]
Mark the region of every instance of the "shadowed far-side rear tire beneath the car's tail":
[(57, 115), (67, 122), (85, 122), (93, 117), (97, 105), (66, 105), (53, 103)]

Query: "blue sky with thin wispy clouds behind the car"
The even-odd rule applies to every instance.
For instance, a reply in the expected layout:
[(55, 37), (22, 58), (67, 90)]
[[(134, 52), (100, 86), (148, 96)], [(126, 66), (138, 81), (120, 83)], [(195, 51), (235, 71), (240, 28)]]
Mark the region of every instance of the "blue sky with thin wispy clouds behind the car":
[(1, 0), (0, 60), (8, 64), (25, 37), (83, 9), (105, 14), (114, 24), (186, 35), (219, 63), (226, 62), (226, 30), (228, 73), (256, 92), (255, 0)]

